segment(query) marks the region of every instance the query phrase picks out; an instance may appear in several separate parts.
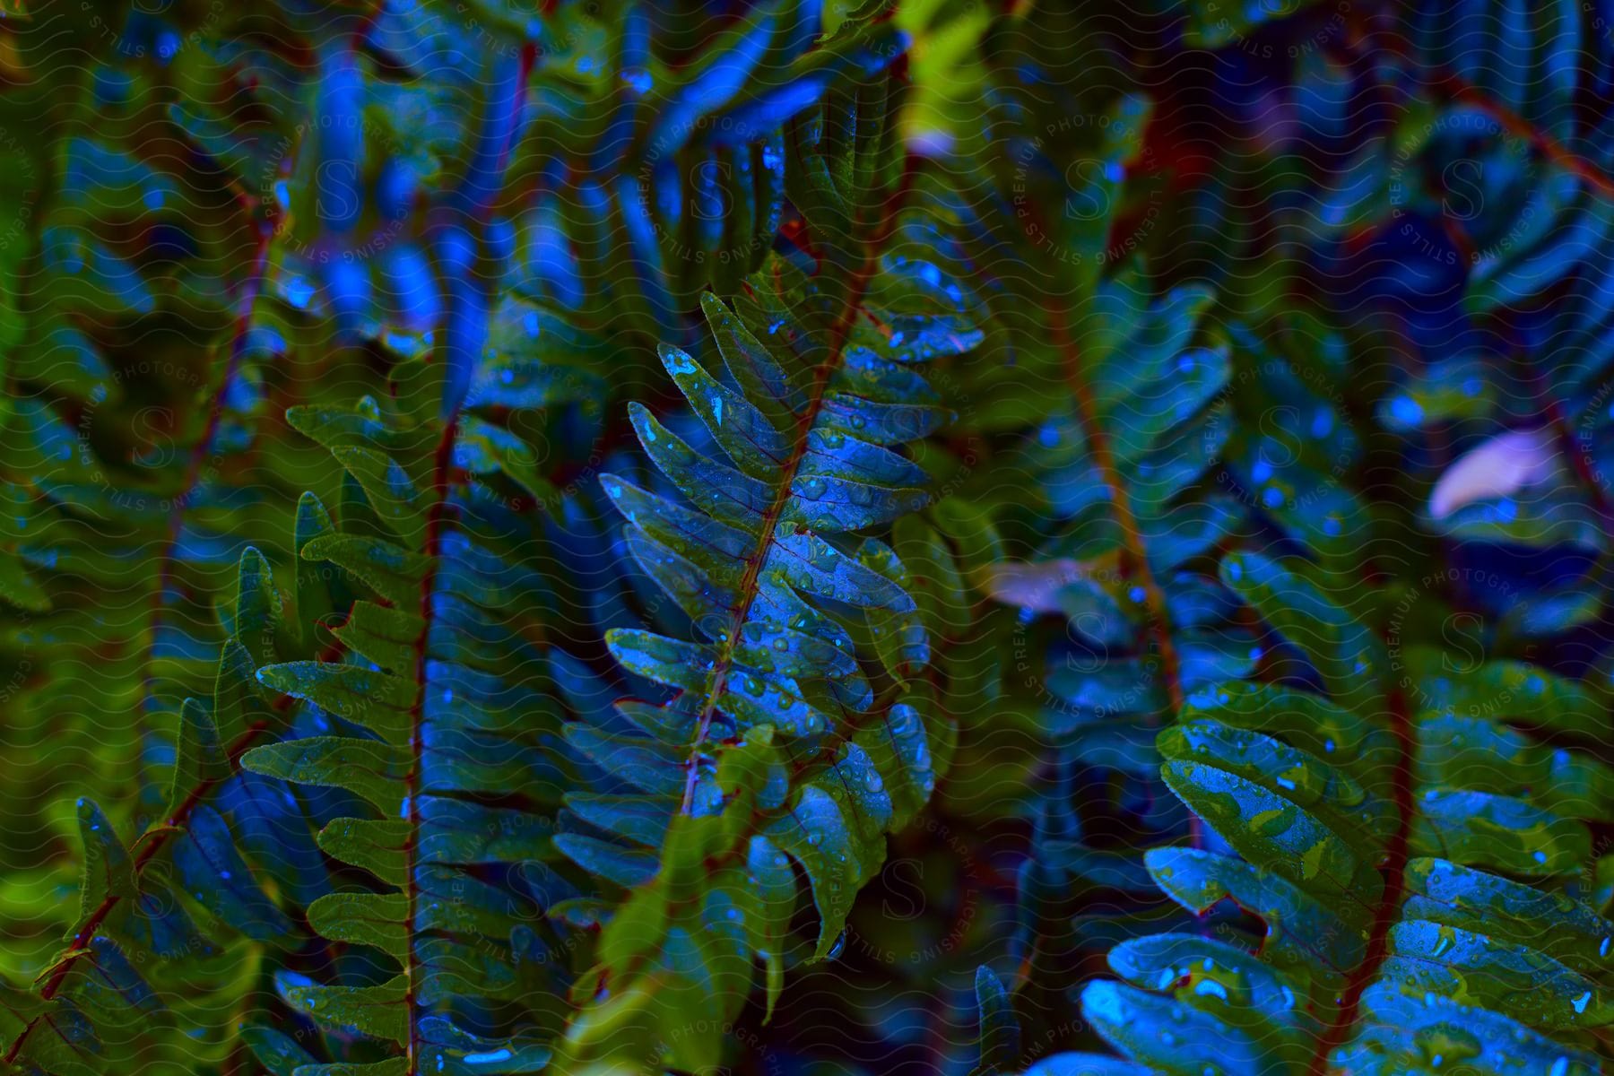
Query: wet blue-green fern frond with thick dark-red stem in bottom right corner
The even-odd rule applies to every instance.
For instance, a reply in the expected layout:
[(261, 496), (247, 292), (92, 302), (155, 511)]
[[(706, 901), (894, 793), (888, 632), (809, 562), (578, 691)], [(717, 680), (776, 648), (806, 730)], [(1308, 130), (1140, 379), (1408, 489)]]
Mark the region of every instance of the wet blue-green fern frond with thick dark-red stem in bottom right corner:
[(1436, 1053), (1475, 1071), (1599, 1071), (1614, 924), (1570, 894), (1591, 852), (1578, 820), (1606, 816), (1614, 771), (1464, 705), (1511, 682), (1506, 711), (1535, 719), (1549, 694), (1582, 689), (1543, 669), (1453, 678), (1438, 660), (1398, 674), (1361, 619), (1370, 598), (1353, 611), (1314, 569), (1256, 553), (1227, 558), (1223, 578), (1328, 695), (1214, 687), (1162, 732), (1167, 784), (1236, 855), (1156, 849), (1149, 873), (1186, 910), (1230, 899), (1262, 932), (1230, 920), (1220, 937), (1120, 945), (1123, 981), (1083, 992), (1099, 1034), (1169, 1073), (1207, 1057), (1424, 1071)]

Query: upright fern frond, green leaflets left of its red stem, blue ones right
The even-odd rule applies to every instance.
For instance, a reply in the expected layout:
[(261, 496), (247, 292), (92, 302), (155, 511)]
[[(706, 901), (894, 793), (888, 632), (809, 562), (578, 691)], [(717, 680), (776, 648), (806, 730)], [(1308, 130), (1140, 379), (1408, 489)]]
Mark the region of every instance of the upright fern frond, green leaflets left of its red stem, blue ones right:
[[(550, 813), (575, 776), (557, 763), (560, 708), (536, 673), (546, 645), (529, 640), (552, 597), (529, 529), (504, 507), (508, 492), (483, 482), (534, 502), (549, 490), (531, 473), (533, 450), (508, 431), (476, 413), (436, 416), (447, 377), (404, 363), (399, 410), (365, 400), (289, 415), (342, 465), (378, 529), (353, 513), (302, 555), (373, 597), (334, 629), (353, 660), (258, 669), (324, 726), (253, 749), (242, 765), (368, 803), (328, 823), (320, 847), (379, 886), (321, 895), (308, 921), (399, 968), (336, 984), (279, 974), (286, 1003), (332, 1032), (332, 1060), (307, 1055), (308, 1071), (357, 1063), (341, 1045), (355, 1029), (400, 1049), (370, 1061), (376, 1071), (534, 1071), (567, 986), (544, 911), (570, 887), (546, 861), (555, 860)], [(491, 1026), (504, 1031), (489, 1037)], [(255, 1036), (265, 1063), (286, 1045), (268, 1029)]]

